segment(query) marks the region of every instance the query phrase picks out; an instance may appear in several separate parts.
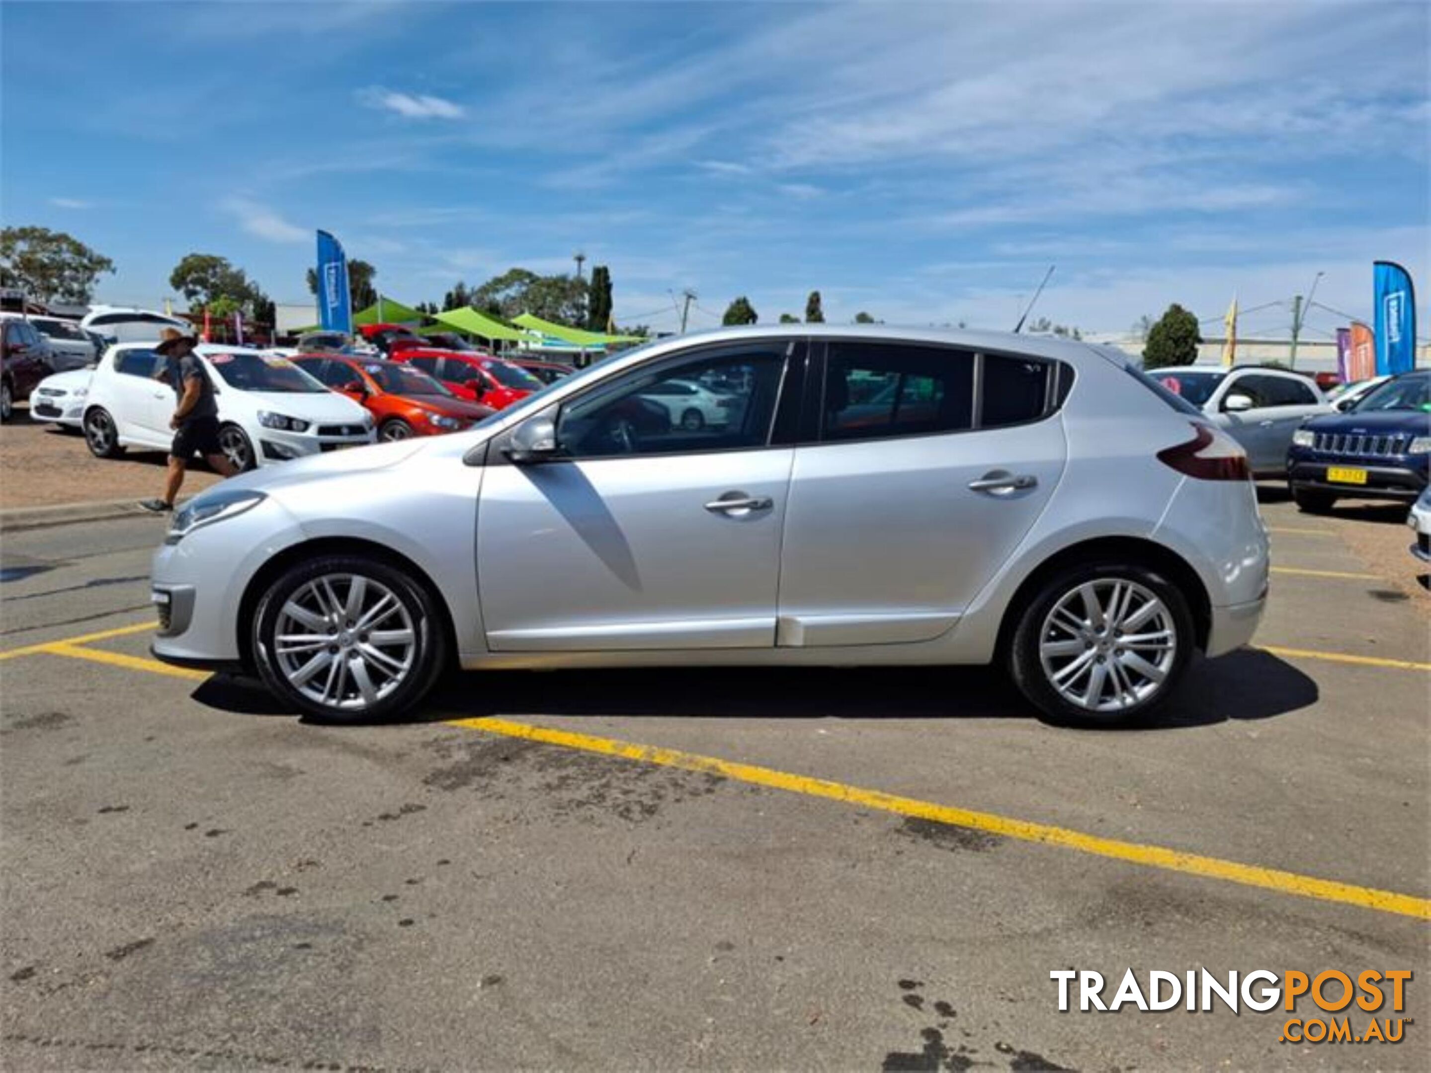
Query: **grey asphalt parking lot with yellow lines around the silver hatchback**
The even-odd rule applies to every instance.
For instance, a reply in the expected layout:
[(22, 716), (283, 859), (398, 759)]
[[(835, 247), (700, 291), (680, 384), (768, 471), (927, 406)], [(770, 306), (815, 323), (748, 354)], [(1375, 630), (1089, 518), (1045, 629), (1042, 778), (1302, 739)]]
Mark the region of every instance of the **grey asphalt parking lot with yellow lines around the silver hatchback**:
[[(1102, 733), (975, 670), (472, 674), (315, 727), (147, 658), (162, 522), (7, 534), (4, 1066), (1424, 1067), (1410, 532), (1264, 514), (1256, 648)], [(1203, 966), (1410, 969), (1411, 1021), (1281, 1043), (1049, 979)]]

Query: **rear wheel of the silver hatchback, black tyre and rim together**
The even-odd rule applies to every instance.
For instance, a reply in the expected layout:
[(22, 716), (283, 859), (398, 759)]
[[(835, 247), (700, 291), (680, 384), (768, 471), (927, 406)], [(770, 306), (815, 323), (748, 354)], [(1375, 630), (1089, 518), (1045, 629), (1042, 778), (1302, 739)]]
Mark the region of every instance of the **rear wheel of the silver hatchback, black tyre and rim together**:
[(1178, 685), (1196, 629), (1182, 591), (1148, 567), (1082, 562), (1047, 578), (1009, 645), (1015, 684), (1055, 722), (1126, 724)]

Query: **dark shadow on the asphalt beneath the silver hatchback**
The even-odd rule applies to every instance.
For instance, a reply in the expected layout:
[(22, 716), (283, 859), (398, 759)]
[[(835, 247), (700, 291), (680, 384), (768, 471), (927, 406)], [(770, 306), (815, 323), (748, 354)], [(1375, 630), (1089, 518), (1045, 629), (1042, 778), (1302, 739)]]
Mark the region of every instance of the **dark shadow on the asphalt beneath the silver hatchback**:
[[(1317, 702), (1317, 682), (1256, 650), (1199, 660), (1148, 722), (1125, 730), (1266, 720)], [(193, 692), (209, 708), (292, 715), (258, 682), (209, 678)], [(396, 722), (481, 715), (620, 715), (730, 720), (1042, 718), (999, 671), (983, 667), (700, 667), (610, 671), (468, 671), (446, 675), (422, 710)]]

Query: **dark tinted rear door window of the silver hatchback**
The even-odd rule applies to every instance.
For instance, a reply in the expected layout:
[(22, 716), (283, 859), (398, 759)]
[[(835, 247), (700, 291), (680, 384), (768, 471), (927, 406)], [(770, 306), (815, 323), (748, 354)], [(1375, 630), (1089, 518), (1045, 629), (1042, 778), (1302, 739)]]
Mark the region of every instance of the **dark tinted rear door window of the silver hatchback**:
[(834, 342), (820, 435), (883, 439), (973, 428), (975, 356), (906, 343)]

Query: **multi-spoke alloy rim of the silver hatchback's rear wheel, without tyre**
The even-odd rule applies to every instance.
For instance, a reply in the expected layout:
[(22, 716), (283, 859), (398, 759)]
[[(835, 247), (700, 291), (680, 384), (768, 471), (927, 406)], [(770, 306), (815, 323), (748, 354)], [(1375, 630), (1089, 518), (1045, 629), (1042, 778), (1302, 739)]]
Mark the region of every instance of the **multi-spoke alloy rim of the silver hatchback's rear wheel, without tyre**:
[(1125, 578), (1066, 592), (1043, 619), (1039, 661), (1049, 684), (1085, 711), (1118, 712), (1158, 694), (1178, 658), (1172, 611)]

